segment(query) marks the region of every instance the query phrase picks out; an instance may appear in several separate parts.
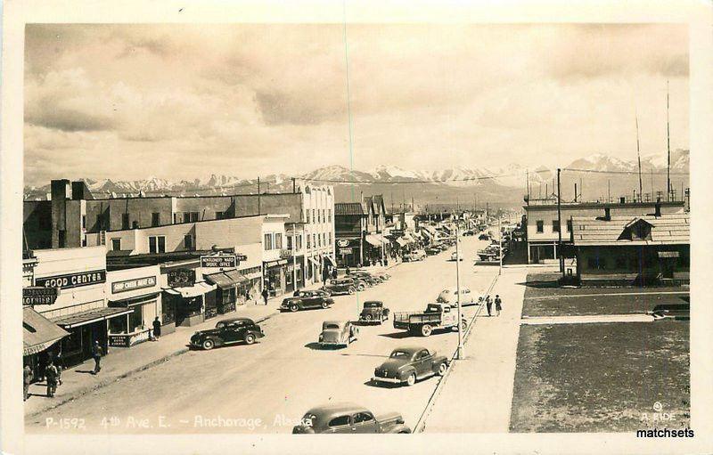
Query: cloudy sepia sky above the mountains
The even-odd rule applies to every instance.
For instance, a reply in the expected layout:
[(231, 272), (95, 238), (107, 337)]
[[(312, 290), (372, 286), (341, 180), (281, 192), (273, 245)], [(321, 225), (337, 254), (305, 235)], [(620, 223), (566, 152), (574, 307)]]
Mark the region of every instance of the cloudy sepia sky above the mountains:
[(25, 183), (635, 158), (635, 111), (642, 153), (666, 150), (667, 80), (671, 148), (688, 148), (685, 26), (346, 34), (348, 46), (340, 24), (29, 25)]

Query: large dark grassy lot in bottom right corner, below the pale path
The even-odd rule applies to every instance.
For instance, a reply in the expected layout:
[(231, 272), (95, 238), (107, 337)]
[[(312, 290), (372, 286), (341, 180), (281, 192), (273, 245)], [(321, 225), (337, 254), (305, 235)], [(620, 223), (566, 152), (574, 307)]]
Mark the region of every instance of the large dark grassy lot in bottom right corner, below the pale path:
[[(521, 326), (512, 432), (626, 432), (653, 406), (689, 425), (689, 323)], [(642, 421), (646, 413), (651, 421)]]

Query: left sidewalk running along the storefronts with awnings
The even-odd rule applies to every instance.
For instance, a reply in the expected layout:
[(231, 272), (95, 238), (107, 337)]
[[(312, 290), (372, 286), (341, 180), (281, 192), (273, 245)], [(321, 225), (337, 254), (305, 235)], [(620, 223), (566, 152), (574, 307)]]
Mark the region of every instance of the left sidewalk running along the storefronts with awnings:
[[(310, 285), (306, 288), (318, 288)], [(246, 317), (259, 323), (280, 313), (283, 297), (268, 299), (267, 305), (238, 305), (236, 311), (218, 315), (193, 327), (176, 327), (176, 332), (160, 337), (159, 341), (146, 341), (129, 348), (111, 347), (108, 355), (102, 357), (102, 371), (94, 376), (94, 360), (88, 360), (61, 374), (62, 385), (57, 387), (53, 398), (46, 396), (45, 382), (29, 386), (29, 399), (25, 402), (25, 417), (32, 417), (60, 406), (65, 402), (107, 386), (119, 379), (127, 378), (139, 371), (152, 368), (171, 357), (188, 352), (188, 341), (197, 330), (212, 329), (217, 321), (232, 317)]]

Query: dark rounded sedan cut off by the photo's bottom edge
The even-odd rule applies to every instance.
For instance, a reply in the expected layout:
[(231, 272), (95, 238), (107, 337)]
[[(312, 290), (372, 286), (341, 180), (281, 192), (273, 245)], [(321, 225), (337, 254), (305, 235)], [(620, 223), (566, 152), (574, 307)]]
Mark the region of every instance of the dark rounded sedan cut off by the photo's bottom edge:
[(373, 412), (351, 402), (331, 403), (307, 410), (293, 435), (316, 433), (411, 433), (398, 412), (374, 416)]

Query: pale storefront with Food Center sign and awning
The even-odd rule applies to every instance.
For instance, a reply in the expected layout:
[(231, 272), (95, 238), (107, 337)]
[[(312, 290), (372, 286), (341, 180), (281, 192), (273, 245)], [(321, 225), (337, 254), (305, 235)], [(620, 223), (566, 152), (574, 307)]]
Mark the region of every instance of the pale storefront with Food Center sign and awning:
[(34, 250), (33, 254), (37, 258), (33, 287), (59, 290), (52, 303), (31, 306), (69, 333), (56, 345), (56, 352), (48, 355), (61, 352), (63, 366), (76, 365), (92, 357), (95, 341), (108, 353), (111, 320), (133, 310), (107, 305), (106, 250), (57, 248)]

